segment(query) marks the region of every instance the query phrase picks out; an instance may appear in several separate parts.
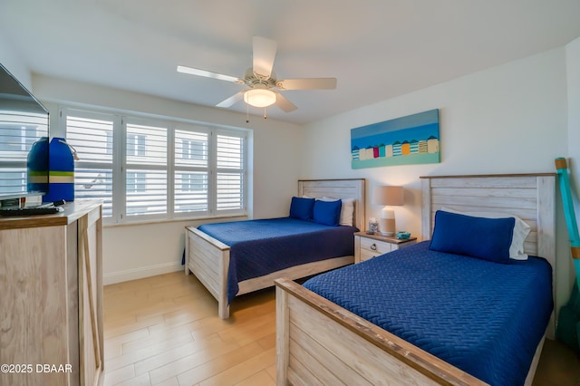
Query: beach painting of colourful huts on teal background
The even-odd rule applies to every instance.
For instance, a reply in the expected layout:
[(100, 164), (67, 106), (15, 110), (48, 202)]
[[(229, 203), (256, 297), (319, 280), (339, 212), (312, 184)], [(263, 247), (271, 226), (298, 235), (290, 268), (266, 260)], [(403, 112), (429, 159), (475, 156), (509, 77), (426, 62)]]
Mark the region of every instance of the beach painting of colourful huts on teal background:
[(352, 168), (440, 162), (439, 109), (351, 130)]

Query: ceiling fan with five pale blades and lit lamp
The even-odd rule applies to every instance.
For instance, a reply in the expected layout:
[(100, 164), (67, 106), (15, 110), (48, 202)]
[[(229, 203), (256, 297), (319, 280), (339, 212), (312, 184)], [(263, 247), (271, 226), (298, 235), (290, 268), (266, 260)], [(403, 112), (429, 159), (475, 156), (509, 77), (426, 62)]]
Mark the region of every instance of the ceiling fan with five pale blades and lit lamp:
[[(297, 109), (294, 103), (288, 101), (280, 92), (285, 90), (333, 90), (336, 88), (336, 78), (296, 78), (277, 80), (274, 67), (274, 59), (277, 44), (275, 41), (264, 37), (254, 36), (253, 39), (253, 66), (248, 68), (243, 78), (224, 75), (217, 72), (209, 72), (197, 68), (179, 65), (178, 72), (218, 79), (220, 81), (246, 84), (247, 90), (237, 92), (235, 95), (219, 102), (217, 107), (230, 107), (238, 101), (245, 101), (254, 107), (266, 108), (275, 104), (285, 112)], [(265, 116), (266, 118), (266, 116)]]

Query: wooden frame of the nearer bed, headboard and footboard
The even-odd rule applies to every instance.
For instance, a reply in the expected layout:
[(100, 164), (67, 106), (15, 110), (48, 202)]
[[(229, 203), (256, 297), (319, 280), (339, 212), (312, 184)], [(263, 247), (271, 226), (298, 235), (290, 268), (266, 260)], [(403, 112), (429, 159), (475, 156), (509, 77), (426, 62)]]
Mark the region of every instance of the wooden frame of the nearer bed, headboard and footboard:
[[(434, 213), (443, 206), (517, 215), (532, 226), (526, 252), (546, 257), (556, 272), (555, 182), (555, 174), (422, 177), (421, 237), (430, 239)], [(285, 278), (275, 283), (278, 385), (485, 384), (302, 285)], [(553, 314), (548, 337), (554, 320)]]

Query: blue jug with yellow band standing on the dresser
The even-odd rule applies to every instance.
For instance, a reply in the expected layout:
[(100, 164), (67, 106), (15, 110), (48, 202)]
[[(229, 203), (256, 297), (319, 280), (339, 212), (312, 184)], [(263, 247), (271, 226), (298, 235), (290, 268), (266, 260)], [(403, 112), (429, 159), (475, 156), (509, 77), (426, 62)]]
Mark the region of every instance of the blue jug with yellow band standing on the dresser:
[(74, 158), (66, 140), (54, 137), (48, 148), (48, 194), (43, 202), (74, 200)]

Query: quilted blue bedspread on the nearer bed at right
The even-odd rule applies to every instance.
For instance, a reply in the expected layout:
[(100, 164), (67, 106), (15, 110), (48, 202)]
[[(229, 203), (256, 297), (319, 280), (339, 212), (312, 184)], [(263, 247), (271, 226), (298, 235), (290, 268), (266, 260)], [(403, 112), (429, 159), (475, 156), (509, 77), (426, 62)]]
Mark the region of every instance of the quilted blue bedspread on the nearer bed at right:
[(429, 241), (315, 276), (304, 286), (492, 385), (523, 385), (552, 313), (545, 259), (511, 265)]

